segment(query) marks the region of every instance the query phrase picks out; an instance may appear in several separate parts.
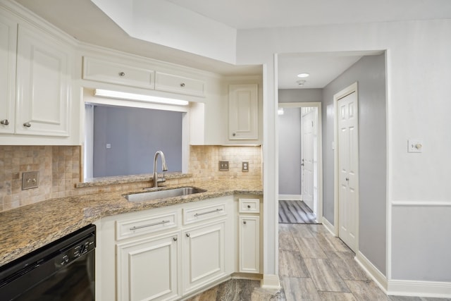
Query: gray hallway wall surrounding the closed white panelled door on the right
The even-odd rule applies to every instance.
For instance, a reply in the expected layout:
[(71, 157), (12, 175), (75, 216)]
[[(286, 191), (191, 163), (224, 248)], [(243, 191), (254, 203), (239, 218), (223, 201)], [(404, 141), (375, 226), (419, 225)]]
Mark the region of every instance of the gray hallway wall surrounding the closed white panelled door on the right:
[(385, 54), (364, 56), (323, 89), (323, 212), (333, 219), (333, 95), (353, 82), (359, 91), (359, 251), (385, 271)]

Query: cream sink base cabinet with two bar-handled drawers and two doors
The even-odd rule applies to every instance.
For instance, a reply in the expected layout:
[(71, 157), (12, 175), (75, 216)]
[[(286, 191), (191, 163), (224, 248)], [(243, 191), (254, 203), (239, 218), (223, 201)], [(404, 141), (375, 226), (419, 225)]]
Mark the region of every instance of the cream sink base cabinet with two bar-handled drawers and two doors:
[(101, 219), (98, 299), (180, 300), (227, 278), (235, 214), (226, 196)]

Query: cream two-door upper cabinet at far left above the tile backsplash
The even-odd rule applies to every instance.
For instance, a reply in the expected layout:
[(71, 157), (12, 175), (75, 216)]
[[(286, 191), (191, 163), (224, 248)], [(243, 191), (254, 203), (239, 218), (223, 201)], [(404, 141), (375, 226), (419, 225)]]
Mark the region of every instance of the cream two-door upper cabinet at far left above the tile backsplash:
[(8, 134), (2, 144), (39, 143), (22, 135), (70, 136), (74, 51), (0, 9), (0, 134)]

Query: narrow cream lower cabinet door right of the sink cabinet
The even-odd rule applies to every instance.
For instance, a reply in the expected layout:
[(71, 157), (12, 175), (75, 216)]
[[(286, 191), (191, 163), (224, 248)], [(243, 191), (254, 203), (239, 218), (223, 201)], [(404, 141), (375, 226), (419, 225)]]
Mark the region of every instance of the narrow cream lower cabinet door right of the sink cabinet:
[(260, 273), (260, 217), (240, 216), (240, 272)]

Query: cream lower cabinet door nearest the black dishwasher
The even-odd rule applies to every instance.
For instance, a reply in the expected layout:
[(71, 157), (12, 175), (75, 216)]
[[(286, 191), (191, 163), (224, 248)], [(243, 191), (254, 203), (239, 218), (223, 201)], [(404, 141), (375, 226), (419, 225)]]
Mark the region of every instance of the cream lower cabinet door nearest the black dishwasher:
[(175, 300), (179, 233), (116, 246), (118, 300)]

